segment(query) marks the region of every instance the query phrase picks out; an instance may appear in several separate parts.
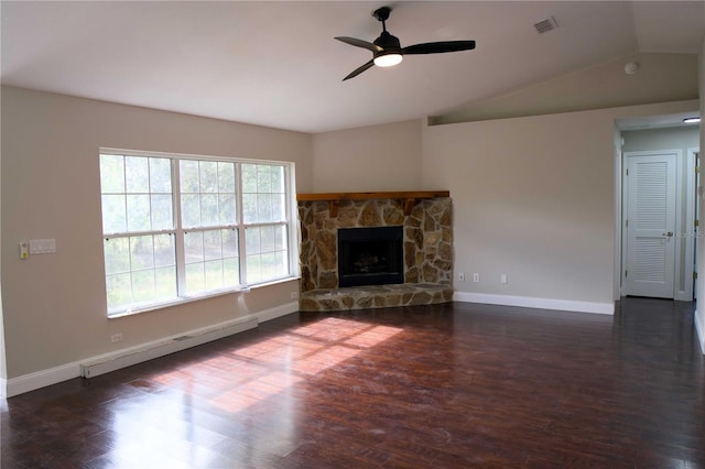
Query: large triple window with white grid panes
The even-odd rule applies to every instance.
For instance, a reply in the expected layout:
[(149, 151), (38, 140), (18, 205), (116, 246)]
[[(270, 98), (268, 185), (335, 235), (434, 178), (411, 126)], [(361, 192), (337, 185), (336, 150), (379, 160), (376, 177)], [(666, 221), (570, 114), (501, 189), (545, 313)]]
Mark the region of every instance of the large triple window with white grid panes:
[(292, 166), (101, 151), (108, 315), (293, 276)]

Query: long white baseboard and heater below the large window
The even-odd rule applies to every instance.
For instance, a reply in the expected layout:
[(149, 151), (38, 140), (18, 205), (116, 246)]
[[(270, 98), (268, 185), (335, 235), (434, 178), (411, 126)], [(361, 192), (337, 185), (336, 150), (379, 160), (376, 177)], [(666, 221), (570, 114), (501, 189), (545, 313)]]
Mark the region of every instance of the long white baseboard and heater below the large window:
[[(4, 390), (7, 397), (34, 391), (62, 381), (72, 380), (82, 377), (82, 372), (86, 370), (86, 366), (90, 368), (89, 377), (94, 378), (98, 374), (115, 371), (120, 368), (140, 363), (142, 361), (152, 360), (163, 357), (174, 351), (184, 350), (217, 340), (228, 335), (237, 334), (252, 327), (257, 327), (259, 323), (275, 319), (288, 314), (296, 313), (299, 303), (291, 302), (259, 313), (252, 313), (248, 316), (240, 317), (230, 321), (219, 323), (216, 325), (193, 329), (178, 336), (166, 337), (164, 339), (154, 340), (142, 343), (137, 347), (116, 350), (110, 353), (104, 353), (96, 357), (89, 357), (72, 363), (61, 364), (58, 367), (41, 370), (34, 373), (24, 374), (9, 380), (2, 380), (0, 386)], [(238, 327), (242, 326), (242, 327)], [(0, 391), (1, 393), (2, 391)]]

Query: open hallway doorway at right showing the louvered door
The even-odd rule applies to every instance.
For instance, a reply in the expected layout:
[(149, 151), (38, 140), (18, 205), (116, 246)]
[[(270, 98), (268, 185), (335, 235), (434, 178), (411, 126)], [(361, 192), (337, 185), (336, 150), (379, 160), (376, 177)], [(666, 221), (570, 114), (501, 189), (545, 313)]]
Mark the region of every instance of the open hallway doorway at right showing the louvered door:
[(616, 131), (616, 298), (693, 301), (699, 126), (623, 126), (618, 122)]

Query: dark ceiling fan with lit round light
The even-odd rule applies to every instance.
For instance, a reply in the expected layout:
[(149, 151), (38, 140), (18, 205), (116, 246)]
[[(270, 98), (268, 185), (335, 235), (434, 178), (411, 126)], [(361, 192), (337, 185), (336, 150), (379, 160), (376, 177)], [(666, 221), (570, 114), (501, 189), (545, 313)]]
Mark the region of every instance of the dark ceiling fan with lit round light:
[(372, 59), (350, 72), (348, 76), (343, 78), (343, 81), (358, 76), (372, 65), (377, 65), (378, 67), (391, 67), (392, 65), (397, 65), (402, 61), (404, 55), (440, 54), (443, 52), (469, 51), (475, 48), (475, 41), (426, 42), (423, 44), (402, 47), (399, 39), (387, 31), (387, 24), (384, 22), (389, 19), (389, 13), (391, 11), (392, 9), (389, 7), (382, 7), (372, 11), (372, 17), (382, 22), (382, 34), (371, 43), (355, 37), (335, 37), (346, 44), (367, 48), (372, 52)]

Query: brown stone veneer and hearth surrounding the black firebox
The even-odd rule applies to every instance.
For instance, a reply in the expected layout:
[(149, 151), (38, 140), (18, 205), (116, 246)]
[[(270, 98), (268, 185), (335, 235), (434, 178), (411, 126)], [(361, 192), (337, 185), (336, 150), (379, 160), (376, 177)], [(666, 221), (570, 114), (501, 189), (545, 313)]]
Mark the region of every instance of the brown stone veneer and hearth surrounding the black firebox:
[[(453, 227), (449, 197), (423, 199), (404, 215), (397, 198), (300, 200), (302, 310), (357, 309), (444, 303), (453, 296)], [(338, 228), (402, 226), (404, 284), (338, 288)]]

